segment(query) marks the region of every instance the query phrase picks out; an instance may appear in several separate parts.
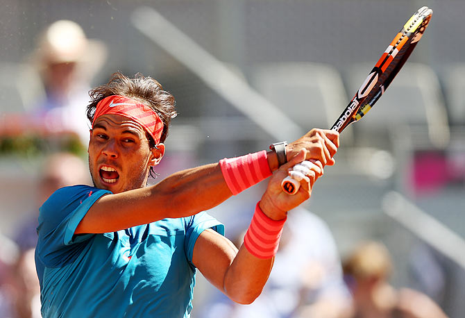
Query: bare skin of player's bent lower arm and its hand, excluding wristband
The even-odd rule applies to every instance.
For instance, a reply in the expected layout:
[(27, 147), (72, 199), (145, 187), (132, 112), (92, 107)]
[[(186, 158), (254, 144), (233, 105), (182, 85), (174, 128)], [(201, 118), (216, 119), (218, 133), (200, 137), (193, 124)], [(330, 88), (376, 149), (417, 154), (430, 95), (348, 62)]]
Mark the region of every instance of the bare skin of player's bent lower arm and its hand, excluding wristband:
[[(322, 167), (314, 167), (306, 180), (301, 181), (301, 189), (295, 195), (282, 192), (280, 181), (287, 176), (287, 169), (305, 158), (301, 151), (293, 160), (273, 174), (267, 191), (260, 201), (260, 209), (269, 219), (285, 219), (291, 210), (310, 197), (316, 178), (323, 174)], [(208, 229), (199, 235), (194, 246), (192, 262), (203, 276), (237, 303), (252, 303), (260, 295), (267, 282), (274, 256), (259, 258), (246, 244), (239, 250), (226, 237)]]

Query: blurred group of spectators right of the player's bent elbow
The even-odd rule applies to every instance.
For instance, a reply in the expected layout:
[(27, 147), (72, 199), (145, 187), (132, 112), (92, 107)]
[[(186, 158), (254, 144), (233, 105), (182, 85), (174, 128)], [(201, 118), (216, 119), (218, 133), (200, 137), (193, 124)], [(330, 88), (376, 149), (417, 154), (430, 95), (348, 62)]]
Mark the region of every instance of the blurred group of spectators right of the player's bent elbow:
[[(248, 216), (235, 217), (233, 242), (240, 246)], [(304, 208), (289, 211), (269, 280), (251, 305), (239, 305), (211, 288), (192, 317), (446, 318), (420, 290), (394, 287), (396, 269), (383, 242), (358, 242), (341, 258), (330, 228)], [(428, 274), (428, 273), (426, 273)]]

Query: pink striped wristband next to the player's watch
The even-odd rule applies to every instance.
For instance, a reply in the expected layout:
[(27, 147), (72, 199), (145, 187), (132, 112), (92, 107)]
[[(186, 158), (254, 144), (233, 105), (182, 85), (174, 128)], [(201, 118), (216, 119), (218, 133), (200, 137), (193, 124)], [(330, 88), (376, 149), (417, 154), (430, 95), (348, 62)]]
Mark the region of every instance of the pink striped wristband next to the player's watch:
[(219, 165), (234, 195), (271, 176), (265, 150), (237, 158), (224, 158), (219, 160)]

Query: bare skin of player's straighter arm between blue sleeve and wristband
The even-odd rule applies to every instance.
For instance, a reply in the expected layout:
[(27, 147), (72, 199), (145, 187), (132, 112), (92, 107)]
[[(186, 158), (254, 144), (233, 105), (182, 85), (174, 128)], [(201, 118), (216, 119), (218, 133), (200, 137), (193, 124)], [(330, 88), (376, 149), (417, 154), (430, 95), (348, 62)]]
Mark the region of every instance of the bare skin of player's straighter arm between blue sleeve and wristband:
[(102, 196), (74, 233), (106, 233), (187, 217), (214, 208), (231, 195), (218, 164), (187, 169), (150, 187)]

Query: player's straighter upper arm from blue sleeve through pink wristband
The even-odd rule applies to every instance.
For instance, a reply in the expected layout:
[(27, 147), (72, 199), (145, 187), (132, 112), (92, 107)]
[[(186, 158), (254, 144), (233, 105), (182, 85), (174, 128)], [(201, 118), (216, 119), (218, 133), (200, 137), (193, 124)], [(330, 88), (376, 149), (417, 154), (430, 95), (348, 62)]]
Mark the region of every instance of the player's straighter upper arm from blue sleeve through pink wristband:
[[(220, 160), (171, 174), (157, 185), (103, 196), (75, 233), (106, 233), (214, 208), (271, 175), (273, 152)], [(277, 166), (277, 165), (276, 165)]]

